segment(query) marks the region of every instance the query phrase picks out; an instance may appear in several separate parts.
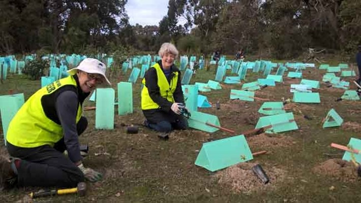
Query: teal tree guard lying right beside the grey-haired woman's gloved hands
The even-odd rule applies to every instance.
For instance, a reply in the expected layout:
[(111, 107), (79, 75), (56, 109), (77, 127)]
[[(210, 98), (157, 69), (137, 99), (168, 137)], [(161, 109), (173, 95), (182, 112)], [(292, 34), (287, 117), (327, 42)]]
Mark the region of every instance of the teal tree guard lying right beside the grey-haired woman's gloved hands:
[(219, 119), (215, 115), (206, 114), (198, 111), (191, 111), (191, 117), (188, 119), (188, 126), (194, 129), (202, 130), (205, 132), (215, 132), (219, 130), (216, 127), (212, 127), (208, 124), (215, 126), (221, 126)]

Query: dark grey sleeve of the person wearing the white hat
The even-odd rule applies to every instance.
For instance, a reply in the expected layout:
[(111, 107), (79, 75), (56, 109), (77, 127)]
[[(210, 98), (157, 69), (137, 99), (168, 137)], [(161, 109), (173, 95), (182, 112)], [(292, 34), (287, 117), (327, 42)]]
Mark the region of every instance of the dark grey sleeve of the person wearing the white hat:
[(64, 91), (55, 101), (57, 116), (64, 132), (64, 143), (67, 147), (70, 160), (74, 163), (82, 160), (80, 155), (78, 132), (76, 130), (76, 113), (78, 96), (73, 91)]

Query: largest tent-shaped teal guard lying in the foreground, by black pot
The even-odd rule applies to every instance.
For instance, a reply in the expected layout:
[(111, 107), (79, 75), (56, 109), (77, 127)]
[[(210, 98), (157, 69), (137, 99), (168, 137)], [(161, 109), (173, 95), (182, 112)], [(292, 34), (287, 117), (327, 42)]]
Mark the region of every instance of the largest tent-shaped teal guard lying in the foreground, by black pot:
[(213, 142), (203, 143), (195, 165), (215, 172), (228, 166), (253, 159), (243, 134)]

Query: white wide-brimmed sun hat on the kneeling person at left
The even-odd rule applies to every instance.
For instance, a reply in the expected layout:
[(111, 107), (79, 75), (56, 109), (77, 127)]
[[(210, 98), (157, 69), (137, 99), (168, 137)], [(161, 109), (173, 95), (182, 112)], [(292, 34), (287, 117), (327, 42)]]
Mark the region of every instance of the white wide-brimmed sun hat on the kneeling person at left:
[(67, 71), (70, 75), (75, 75), (77, 70), (84, 71), (86, 73), (100, 74), (107, 81), (108, 85), (111, 85), (108, 78), (105, 76), (107, 67), (103, 62), (95, 58), (85, 58), (82, 60), (77, 67)]

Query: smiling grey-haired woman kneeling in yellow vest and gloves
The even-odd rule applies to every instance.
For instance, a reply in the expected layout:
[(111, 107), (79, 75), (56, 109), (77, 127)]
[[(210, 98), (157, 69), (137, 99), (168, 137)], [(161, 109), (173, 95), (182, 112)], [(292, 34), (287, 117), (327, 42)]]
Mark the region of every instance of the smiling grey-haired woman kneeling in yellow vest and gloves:
[(158, 54), (161, 60), (145, 72), (142, 81), (144, 125), (160, 132), (187, 129), (188, 122), (182, 115), (185, 107), (181, 72), (174, 65), (178, 50), (173, 44), (164, 43)]

